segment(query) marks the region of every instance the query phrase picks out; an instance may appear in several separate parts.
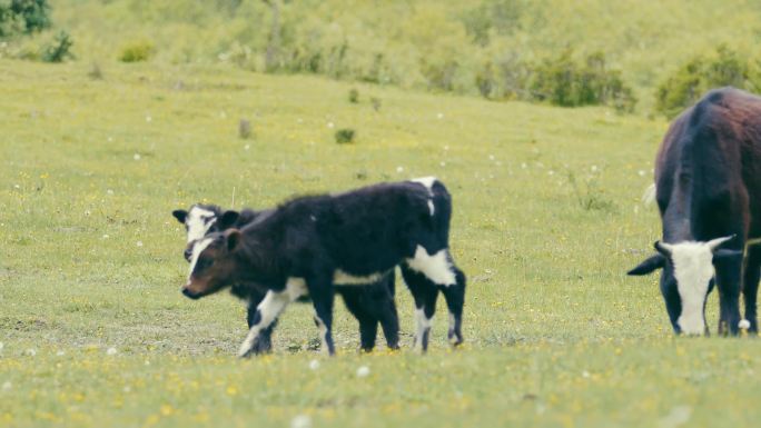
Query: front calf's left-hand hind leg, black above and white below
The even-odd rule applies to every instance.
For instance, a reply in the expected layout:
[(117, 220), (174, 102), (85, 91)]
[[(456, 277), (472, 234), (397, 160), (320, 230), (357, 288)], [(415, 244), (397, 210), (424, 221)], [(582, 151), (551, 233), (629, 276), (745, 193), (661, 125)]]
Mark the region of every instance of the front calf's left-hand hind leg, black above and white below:
[(404, 282), (415, 300), (415, 347), (419, 347), (425, 352), (428, 350), (428, 337), (433, 316), (436, 312), (438, 289), (425, 275), (409, 268), (407, 263), (403, 263), (401, 268)]

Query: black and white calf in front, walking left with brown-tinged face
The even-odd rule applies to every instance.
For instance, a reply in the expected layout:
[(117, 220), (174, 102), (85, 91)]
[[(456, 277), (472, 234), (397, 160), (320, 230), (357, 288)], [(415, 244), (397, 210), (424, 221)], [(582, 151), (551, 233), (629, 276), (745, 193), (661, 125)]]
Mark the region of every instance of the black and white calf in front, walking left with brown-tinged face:
[(448, 337), (458, 345), (465, 275), (449, 253), (451, 217), (451, 196), (435, 178), (296, 198), (240, 230), (195, 242), (182, 293), (197, 299), (233, 283), (267, 290), (241, 357), (256, 354), (263, 331), (289, 302), (308, 295), (323, 346), (333, 355), (334, 286), (372, 283), (399, 266), (415, 300), (416, 345), (427, 349), (439, 291), (449, 310)]

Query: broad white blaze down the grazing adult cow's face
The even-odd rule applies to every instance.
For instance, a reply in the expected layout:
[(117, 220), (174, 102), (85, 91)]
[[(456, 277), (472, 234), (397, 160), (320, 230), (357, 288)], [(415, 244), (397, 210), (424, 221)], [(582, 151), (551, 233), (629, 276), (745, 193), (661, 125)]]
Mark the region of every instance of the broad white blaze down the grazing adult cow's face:
[(682, 313), (676, 322), (685, 335), (703, 335), (705, 319), (703, 303), (709, 281), (714, 276), (713, 251), (706, 242), (670, 245), (674, 278), (682, 300)]

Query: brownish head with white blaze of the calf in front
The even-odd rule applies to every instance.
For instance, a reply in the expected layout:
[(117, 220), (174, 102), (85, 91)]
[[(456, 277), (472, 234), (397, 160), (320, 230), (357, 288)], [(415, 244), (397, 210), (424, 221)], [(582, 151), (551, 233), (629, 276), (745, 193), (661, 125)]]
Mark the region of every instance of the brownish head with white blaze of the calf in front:
[(182, 293), (191, 299), (211, 295), (230, 286), (237, 263), (234, 255), (240, 245), (238, 229), (210, 233), (191, 245), (190, 272)]

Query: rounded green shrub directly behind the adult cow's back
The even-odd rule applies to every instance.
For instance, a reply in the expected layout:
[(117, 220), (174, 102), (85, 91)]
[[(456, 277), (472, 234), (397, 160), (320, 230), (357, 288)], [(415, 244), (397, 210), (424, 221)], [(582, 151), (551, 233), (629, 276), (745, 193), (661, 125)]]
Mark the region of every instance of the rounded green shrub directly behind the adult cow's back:
[(752, 74), (751, 64), (722, 44), (712, 54), (692, 58), (666, 78), (658, 87), (655, 110), (673, 118), (712, 88), (733, 86), (752, 90)]

